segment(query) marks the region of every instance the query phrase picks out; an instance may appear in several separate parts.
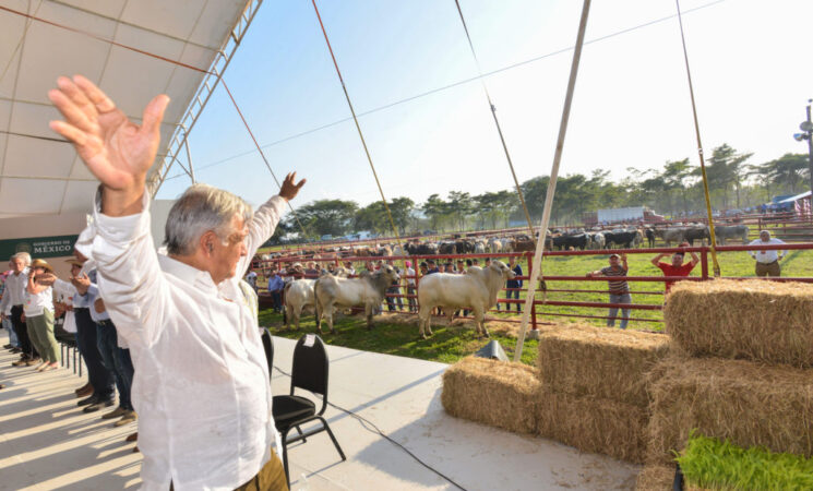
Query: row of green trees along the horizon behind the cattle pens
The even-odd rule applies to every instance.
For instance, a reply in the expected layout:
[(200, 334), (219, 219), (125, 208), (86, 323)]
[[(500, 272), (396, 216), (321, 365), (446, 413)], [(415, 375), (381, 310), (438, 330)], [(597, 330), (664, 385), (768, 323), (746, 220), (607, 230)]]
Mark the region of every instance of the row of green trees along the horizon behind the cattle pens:
[[(750, 153), (741, 153), (722, 144), (706, 159), (712, 206), (715, 209), (744, 208), (770, 201), (778, 194), (803, 192), (810, 182), (808, 156), (786, 154), (775, 160), (754, 164)], [(667, 161), (660, 169), (641, 171), (626, 169), (618, 182), (610, 181), (609, 170), (594, 170), (560, 177), (553, 200), (552, 221), (558, 225), (582, 223), (585, 212), (624, 206), (649, 206), (659, 214), (683, 216), (705, 209), (700, 166), (689, 158)], [(540, 176), (521, 184), (534, 220), (541, 218), (545, 194), (550, 177)], [(423, 203), (409, 197), (396, 197), (388, 203), (399, 233), (486, 229), (507, 227), (511, 221), (525, 221), (519, 199), (513, 189), (470, 195), (451, 191), (444, 199), (432, 194)], [(391, 224), (381, 202), (359, 206), (354, 201), (318, 200), (288, 214), (275, 236), (300, 233), (298, 221), (310, 238), (325, 235), (342, 237), (370, 230), (391, 231)]]

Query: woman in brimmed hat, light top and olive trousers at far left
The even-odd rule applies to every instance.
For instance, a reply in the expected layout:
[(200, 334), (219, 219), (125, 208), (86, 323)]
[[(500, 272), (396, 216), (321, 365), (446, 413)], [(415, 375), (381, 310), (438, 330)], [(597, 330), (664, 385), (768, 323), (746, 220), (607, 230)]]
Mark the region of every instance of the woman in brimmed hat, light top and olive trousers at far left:
[(36, 276), (44, 274), (53, 274), (53, 268), (44, 260), (34, 260), (25, 286), (23, 309), (31, 342), (43, 357), (43, 362), (37, 367), (39, 372), (59, 368), (59, 344), (53, 337), (53, 290), (36, 283)]

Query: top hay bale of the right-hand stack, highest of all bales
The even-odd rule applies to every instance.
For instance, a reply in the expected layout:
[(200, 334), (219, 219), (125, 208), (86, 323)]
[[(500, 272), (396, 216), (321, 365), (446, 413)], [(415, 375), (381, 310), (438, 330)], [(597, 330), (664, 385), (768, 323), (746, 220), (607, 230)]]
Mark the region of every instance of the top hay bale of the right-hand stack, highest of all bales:
[(663, 316), (667, 333), (694, 356), (813, 367), (813, 285), (678, 283)]

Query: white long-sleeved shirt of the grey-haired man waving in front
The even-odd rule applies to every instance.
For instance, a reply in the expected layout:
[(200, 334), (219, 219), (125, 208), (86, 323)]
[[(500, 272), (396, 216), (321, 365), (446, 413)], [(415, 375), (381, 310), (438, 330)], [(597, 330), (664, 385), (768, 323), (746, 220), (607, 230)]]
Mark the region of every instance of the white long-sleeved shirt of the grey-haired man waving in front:
[[(139, 412), (143, 489), (232, 490), (280, 452), (268, 367), (256, 320), (239, 277), (212, 276), (158, 255), (144, 212), (94, 223), (76, 243), (98, 268), (98, 288), (127, 338), (135, 367), (132, 400)], [(254, 214), (242, 273), (279, 221), (285, 200)], [(239, 273), (238, 273), (239, 274)]]

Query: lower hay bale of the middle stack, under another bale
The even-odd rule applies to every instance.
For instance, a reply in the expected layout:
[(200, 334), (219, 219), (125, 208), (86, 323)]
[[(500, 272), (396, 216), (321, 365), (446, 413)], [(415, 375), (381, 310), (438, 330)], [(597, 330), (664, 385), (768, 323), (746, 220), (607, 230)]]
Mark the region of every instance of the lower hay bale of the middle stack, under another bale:
[(541, 436), (632, 463), (646, 454), (645, 409), (608, 399), (539, 392), (537, 424)]

